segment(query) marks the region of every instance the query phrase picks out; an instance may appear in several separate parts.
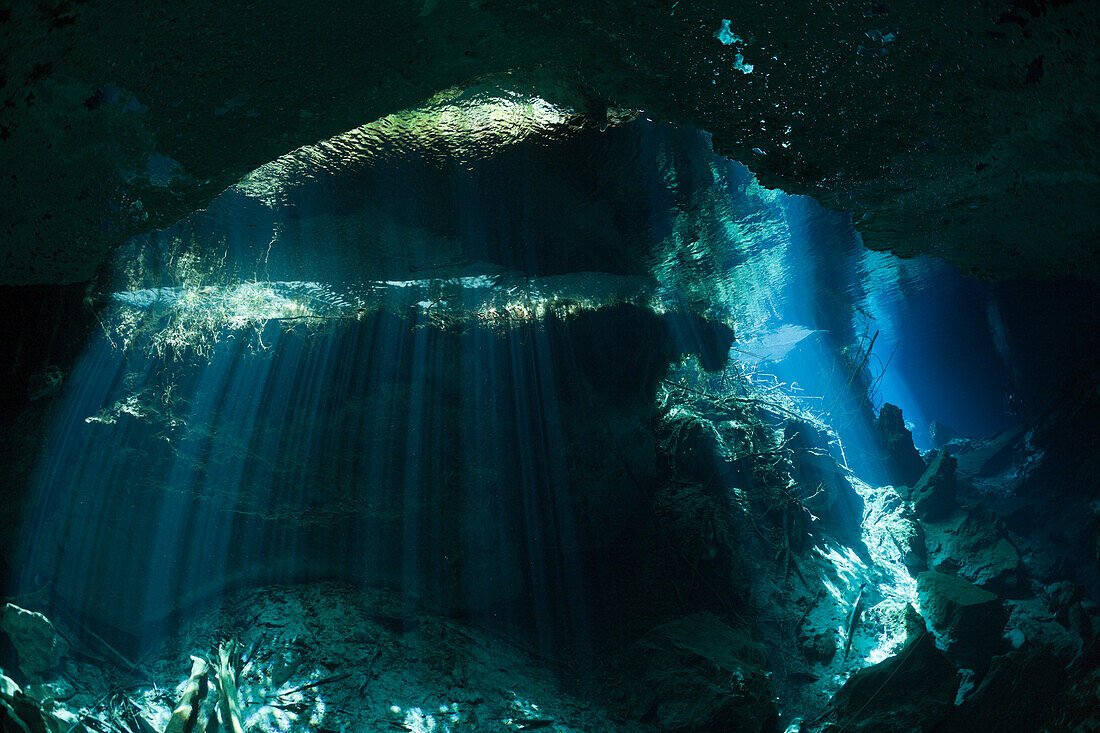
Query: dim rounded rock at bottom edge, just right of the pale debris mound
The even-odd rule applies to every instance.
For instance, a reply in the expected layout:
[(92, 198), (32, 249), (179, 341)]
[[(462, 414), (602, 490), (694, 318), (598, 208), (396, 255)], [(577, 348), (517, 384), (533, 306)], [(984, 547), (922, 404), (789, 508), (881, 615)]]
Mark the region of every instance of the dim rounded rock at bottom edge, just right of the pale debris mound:
[(634, 707), (662, 731), (778, 731), (763, 655), (710, 613), (653, 628), (630, 655)]

